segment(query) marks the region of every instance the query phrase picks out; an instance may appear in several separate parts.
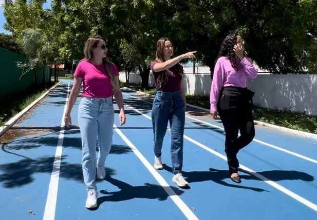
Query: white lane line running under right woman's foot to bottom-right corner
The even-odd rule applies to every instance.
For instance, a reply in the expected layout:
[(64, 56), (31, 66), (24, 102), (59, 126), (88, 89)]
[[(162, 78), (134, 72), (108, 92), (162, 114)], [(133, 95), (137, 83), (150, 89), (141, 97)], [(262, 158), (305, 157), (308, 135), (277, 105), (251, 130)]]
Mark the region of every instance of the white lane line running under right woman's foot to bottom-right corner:
[[(133, 107), (130, 107), (129, 105), (126, 105), (126, 106), (129, 107), (130, 109), (134, 110), (135, 112), (137, 112), (137, 113), (143, 115), (144, 117), (146, 117), (146, 118), (152, 120), (152, 118), (151, 118), (150, 116), (148, 116), (148, 115), (146, 115), (146, 114), (143, 114), (141, 111), (139, 111), (139, 110), (137, 110), (137, 109), (135, 109), (135, 108), (133, 108)], [(168, 130), (170, 130), (170, 129), (168, 129)], [(212, 154), (214, 154), (214, 155), (220, 157), (221, 159), (223, 159), (224, 161), (227, 162), (227, 157), (226, 157), (225, 155), (222, 155), (222, 154), (218, 153), (217, 151), (214, 151), (214, 150), (210, 149), (209, 147), (207, 147), (207, 146), (205, 146), (205, 145), (203, 145), (203, 144), (201, 144), (201, 143), (195, 141), (194, 139), (188, 137), (187, 135), (184, 135), (184, 138), (187, 139), (188, 141), (190, 141), (191, 143), (193, 143), (193, 144), (195, 144), (195, 145), (201, 147), (201, 148), (204, 149), (204, 150), (207, 150), (208, 152), (210, 152), (210, 153), (212, 153)], [(245, 166), (243, 166), (243, 165), (240, 164), (240, 168), (243, 169), (243, 170), (245, 170), (245, 171), (247, 171), (249, 174), (256, 176), (257, 178), (261, 179), (262, 181), (266, 182), (267, 184), (271, 185), (272, 187), (278, 189), (279, 191), (285, 193), (286, 195), (288, 195), (288, 196), (290, 196), (290, 197), (296, 199), (298, 202), (300, 202), (300, 203), (306, 205), (307, 207), (313, 209), (314, 211), (317, 211), (317, 205), (315, 205), (315, 204), (313, 204), (312, 202), (308, 201), (307, 199), (301, 197), (300, 195), (297, 195), (296, 193), (294, 193), (294, 192), (292, 192), (292, 191), (286, 189), (285, 187), (283, 187), (283, 186), (281, 186), (281, 185), (279, 185), (279, 184), (277, 184), (277, 183), (271, 181), (271, 180), (268, 179), (267, 177), (265, 177), (265, 176), (263, 176), (263, 175), (261, 175), (261, 174), (255, 172), (255, 171), (251, 170), (251, 169), (248, 168), (248, 167), (245, 167)]]

